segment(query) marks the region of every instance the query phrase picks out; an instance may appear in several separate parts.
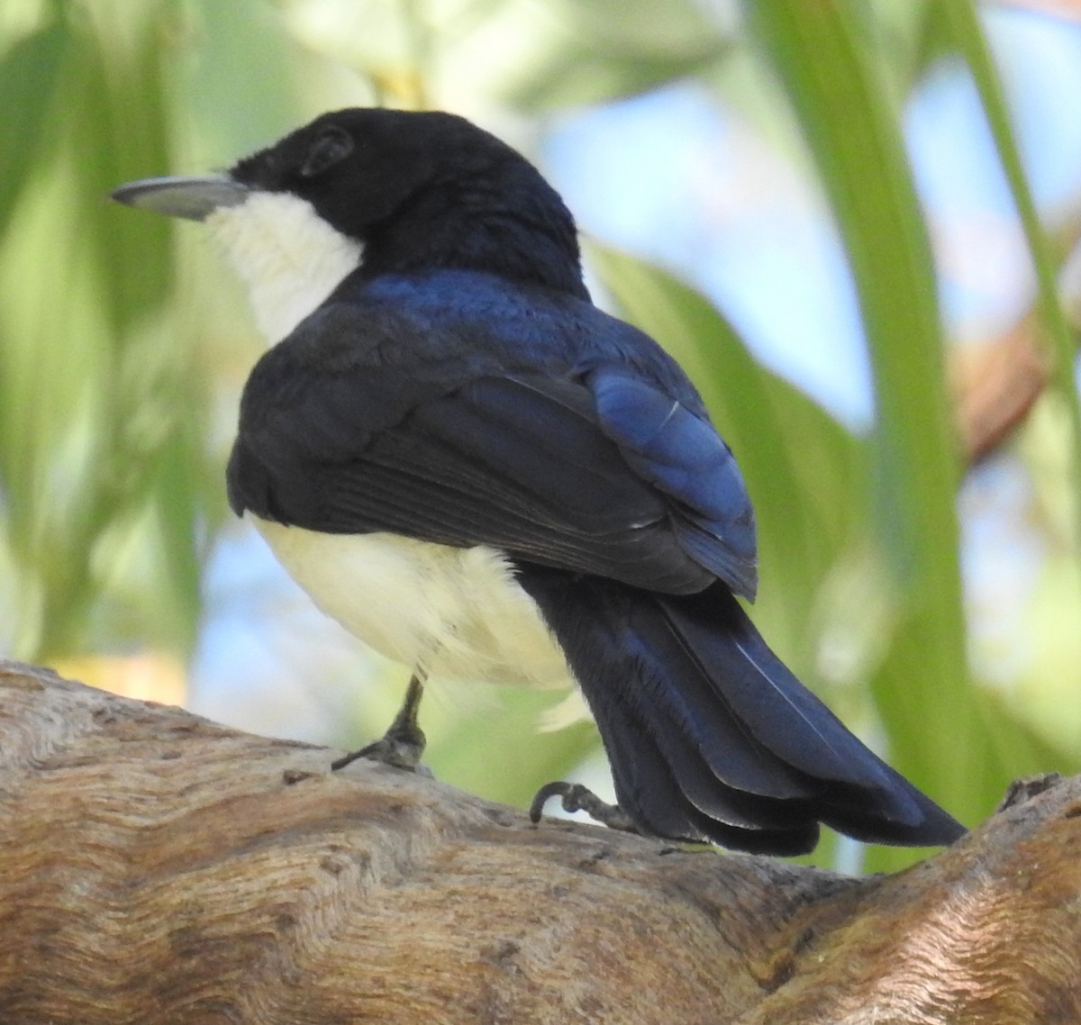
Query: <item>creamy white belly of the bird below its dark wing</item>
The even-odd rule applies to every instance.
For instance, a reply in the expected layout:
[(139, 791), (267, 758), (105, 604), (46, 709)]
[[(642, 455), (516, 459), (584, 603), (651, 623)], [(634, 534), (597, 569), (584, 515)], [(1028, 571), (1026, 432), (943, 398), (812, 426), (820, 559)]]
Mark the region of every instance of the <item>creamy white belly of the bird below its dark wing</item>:
[(311, 600), (381, 654), (446, 679), (572, 681), (536, 603), (494, 548), (320, 534), (249, 516)]

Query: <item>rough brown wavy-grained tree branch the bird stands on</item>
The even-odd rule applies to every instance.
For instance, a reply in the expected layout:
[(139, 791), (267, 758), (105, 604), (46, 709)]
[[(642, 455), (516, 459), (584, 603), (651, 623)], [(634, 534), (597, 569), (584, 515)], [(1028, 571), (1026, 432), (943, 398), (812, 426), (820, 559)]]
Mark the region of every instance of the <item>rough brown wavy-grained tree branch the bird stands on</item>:
[(893, 877), (688, 851), (0, 663), (0, 1022), (1081, 1021), (1081, 782)]

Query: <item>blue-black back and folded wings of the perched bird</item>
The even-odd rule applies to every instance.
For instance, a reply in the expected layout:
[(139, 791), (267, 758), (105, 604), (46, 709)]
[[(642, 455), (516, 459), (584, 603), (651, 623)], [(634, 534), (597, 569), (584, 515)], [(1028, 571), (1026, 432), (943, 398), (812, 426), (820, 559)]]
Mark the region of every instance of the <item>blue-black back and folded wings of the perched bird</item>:
[(520, 316), (324, 307), (252, 374), (233, 508), (752, 596), (750, 503), (697, 396), (644, 335), (577, 306), (548, 310), (547, 334), (516, 333)]

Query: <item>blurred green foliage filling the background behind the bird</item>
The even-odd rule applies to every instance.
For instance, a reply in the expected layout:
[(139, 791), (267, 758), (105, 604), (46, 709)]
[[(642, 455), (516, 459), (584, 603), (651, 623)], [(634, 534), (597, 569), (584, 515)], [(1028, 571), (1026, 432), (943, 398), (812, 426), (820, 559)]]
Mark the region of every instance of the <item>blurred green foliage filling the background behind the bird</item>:
[[(1033, 612), (1045, 657), (1012, 695), (988, 692), (970, 667), (957, 515), (965, 468), (900, 128), (906, 98), (944, 58), (966, 65), (977, 84), (1057, 367), (1016, 447), (1044, 480), (1055, 545), (1035, 605), (1054, 614)], [(222, 467), (259, 343), (197, 232), (173, 236), (114, 208), (111, 187), (225, 165), (351, 104), (446, 107), (530, 148), (552, 117), (689, 79), (817, 181), (873, 368), (876, 421), (857, 436), (760, 365), (685, 283), (590, 248), (612, 301), (684, 363), (740, 461), (760, 521), (756, 618), (849, 722), (965, 822), (986, 815), (1013, 776), (1076, 769), (1081, 743), (1057, 713), (1070, 694), (1078, 704), (1081, 683), (1068, 657), (1081, 615), (1076, 340), (1056, 295), (1058, 256), (969, 0), (9, 0), (0, 8), (3, 650), (79, 660), (84, 678), (97, 656), (109, 667), (104, 682), (118, 653), (139, 665), (157, 653), (175, 684), (176, 665), (214, 615), (202, 598), (206, 560), (223, 531), (236, 530)], [(318, 687), (318, 652), (307, 654)], [(353, 734), (328, 740), (378, 731), (400, 685), (373, 683)], [(496, 701), (497, 709), (439, 705), (429, 727), (438, 775), (521, 803), (596, 750), (583, 726), (535, 734), (547, 696)], [(830, 856), (829, 843), (816, 855)], [(913, 856), (875, 851), (868, 863)]]

